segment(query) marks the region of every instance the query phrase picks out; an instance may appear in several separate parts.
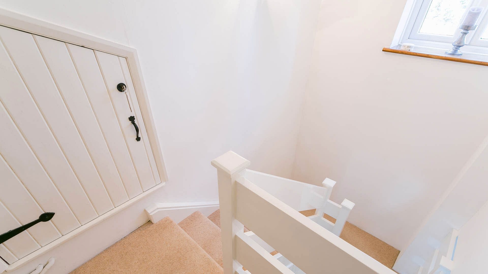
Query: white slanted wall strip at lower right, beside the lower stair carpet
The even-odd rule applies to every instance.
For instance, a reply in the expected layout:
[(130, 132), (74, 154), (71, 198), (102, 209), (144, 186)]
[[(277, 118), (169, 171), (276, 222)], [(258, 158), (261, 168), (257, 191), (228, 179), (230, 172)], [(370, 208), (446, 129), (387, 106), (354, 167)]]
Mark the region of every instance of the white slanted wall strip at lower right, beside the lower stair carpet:
[[(430, 262), (434, 250), (440, 247), (453, 229), (462, 229), (464, 235), (460, 239), (462, 238), (463, 246), (466, 246), (464, 243), (470, 241), (470, 236), (467, 238), (465, 235), (470, 233), (470, 229), (465, 229), (464, 226), (488, 201), (487, 166), (488, 136), (469, 157), (436, 205), (428, 211), (427, 218), (409, 240), (408, 247), (398, 255), (393, 266), (395, 271), (401, 274), (418, 273), (419, 265)], [(476, 252), (462, 249), (463, 257), (469, 257), (468, 254)], [(456, 266), (459, 263), (457, 257), (456, 255), (454, 260)]]

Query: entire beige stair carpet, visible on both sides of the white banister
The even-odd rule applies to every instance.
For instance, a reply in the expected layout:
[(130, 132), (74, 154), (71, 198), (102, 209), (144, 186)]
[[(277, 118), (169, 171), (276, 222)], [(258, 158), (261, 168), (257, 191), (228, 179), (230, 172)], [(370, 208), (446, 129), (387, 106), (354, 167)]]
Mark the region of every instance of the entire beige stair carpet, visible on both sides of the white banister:
[[(310, 216), (315, 210), (301, 213)], [(324, 217), (335, 222), (328, 215)], [(341, 238), (389, 268), (400, 253), (349, 222)], [(148, 222), (71, 273), (222, 274), (221, 266), (220, 211), (217, 210), (208, 218), (194, 212), (178, 225), (169, 217), (156, 224)]]

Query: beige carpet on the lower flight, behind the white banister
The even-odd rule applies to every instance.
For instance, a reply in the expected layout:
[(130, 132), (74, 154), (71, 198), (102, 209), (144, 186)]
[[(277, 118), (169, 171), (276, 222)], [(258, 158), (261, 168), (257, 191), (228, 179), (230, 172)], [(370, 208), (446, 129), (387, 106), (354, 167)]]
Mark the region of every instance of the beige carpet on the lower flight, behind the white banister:
[[(300, 213), (308, 217), (315, 214), (315, 209), (301, 211)], [(324, 215), (324, 217), (331, 222), (335, 222), (335, 219), (329, 215)], [(400, 251), (396, 248), (349, 222), (344, 225), (341, 238), (390, 269), (393, 267), (398, 254), (400, 254)]]

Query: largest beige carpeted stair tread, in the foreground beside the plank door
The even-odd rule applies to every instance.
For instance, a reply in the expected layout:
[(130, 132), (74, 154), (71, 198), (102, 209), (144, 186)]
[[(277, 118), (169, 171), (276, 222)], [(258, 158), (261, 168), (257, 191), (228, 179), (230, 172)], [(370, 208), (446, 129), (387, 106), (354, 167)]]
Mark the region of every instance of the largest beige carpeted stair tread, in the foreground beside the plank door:
[[(220, 239), (219, 239), (220, 240)], [(144, 224), (71, 274), (222, 274), (219, 266), (169, 217)]]

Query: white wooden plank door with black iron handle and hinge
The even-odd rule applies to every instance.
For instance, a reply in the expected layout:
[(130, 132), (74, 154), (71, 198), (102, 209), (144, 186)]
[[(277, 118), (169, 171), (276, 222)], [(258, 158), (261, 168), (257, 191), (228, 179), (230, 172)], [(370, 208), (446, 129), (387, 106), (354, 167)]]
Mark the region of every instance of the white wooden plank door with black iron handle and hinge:
[(124, 58), (0, 26), (0, 82), (0, 234), (56, 213), (0, 244), (0, 260), (161, 182)]

